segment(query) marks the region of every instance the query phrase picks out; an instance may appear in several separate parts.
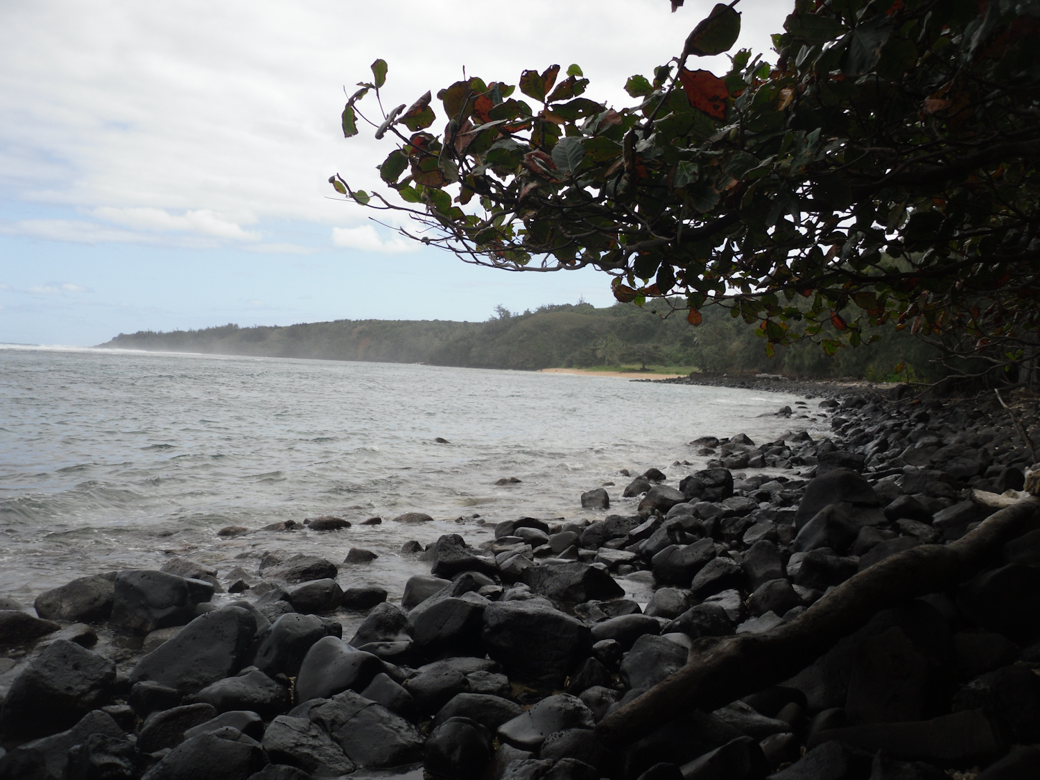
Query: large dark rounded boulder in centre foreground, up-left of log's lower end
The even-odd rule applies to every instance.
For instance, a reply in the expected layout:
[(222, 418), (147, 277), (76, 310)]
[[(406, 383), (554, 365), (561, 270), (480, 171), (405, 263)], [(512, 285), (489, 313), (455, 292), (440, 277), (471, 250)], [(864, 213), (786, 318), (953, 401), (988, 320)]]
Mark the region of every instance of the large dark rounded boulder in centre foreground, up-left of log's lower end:
[(538, 600), (488, 605), (484, 642), (511, 676), (547, 685), (562, 685), (592, 646), (588, 626)]

